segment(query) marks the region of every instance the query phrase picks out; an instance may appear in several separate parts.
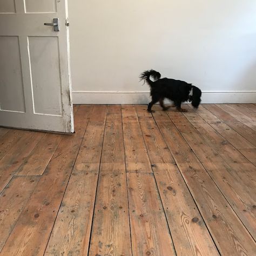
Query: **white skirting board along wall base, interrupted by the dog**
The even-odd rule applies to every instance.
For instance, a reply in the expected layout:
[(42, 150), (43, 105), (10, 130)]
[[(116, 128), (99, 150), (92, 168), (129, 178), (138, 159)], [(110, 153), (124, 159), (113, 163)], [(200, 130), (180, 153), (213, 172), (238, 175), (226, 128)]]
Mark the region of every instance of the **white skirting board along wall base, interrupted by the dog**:
[[(256, 91), (203, 92), (202, 103), (256, 103)], [(73, 91), (74, 104), (147, 104), (149, 92)]]

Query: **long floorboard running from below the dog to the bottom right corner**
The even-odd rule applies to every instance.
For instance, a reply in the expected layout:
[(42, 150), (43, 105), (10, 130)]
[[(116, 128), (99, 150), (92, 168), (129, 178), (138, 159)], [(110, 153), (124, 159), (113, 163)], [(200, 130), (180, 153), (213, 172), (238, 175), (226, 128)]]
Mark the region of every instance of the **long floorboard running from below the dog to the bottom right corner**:
[[(155, 114), (158, 115), (154, 113), (153, 116)], [(196, 156), (191, 153), (190, 161), (184, 161), (180, 158), (180, 153), (177, 154), (175, 143), (177, 139), (173, 138), (170, 132), (166, 132), (167, 127), (172, 127), (172, 134), (178, 133), (178, 130), (174, 132), (176, 127), (173, 127), (171, 120), (170, 122), (161, 122), (157, 118), (156, 120), (220, 253), (253, 255), (256, 248), (254, 240)], [(179, 137), (179, 141), (182, 142), (180, 143), (182, 152), (187, 152), (190, 147), (185, 139)]]

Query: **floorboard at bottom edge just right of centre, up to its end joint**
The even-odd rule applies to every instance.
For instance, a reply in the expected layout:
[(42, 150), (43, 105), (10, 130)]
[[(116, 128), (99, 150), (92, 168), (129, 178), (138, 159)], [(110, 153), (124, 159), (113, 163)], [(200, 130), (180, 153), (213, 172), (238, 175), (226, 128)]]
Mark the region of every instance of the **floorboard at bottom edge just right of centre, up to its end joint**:
[(127, 173), (133, 255), (176, 255), (152, 173)]

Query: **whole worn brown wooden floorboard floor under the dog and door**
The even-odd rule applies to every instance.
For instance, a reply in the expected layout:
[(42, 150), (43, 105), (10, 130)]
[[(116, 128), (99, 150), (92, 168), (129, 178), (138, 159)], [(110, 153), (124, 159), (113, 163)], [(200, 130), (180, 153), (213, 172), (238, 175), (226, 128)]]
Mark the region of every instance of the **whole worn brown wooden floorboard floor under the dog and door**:
[(0, 255), (256, 255), (256, 105), (183, 108), (0, 127)]

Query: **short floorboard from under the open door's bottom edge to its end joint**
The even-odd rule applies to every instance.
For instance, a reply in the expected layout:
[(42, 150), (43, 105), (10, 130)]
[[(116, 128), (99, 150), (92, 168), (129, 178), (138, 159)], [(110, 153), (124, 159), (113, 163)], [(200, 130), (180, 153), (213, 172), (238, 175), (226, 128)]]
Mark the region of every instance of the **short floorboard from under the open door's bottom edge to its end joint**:
[(42, 175), (64, 135), (46, 133), (26, 157), (16, 175)]

